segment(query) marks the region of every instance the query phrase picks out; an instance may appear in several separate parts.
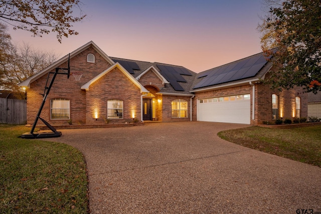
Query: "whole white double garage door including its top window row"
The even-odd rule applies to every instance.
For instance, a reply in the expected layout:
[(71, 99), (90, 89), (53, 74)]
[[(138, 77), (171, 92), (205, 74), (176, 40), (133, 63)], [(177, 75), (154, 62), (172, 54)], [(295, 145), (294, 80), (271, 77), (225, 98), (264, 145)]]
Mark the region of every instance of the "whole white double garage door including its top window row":
[(197, 120), (250, 124), (250, 108), (249, 94), (199, 99)]

